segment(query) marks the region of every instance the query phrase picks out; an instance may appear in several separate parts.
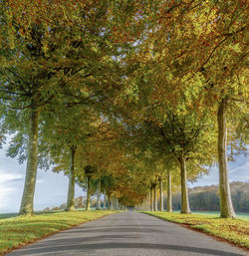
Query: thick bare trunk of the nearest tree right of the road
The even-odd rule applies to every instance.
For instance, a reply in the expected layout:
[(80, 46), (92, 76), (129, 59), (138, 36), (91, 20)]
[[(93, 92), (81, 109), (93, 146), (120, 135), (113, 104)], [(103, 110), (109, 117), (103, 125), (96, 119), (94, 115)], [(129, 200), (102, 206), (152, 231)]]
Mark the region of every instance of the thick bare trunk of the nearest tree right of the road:
[(228, 100), (222, 99), (218, 108), (218, 159), (219, 159), (219, 193), (220, 193), (220, 217), (235, 218), (227, 169), (227, 128), (226, 111)]

